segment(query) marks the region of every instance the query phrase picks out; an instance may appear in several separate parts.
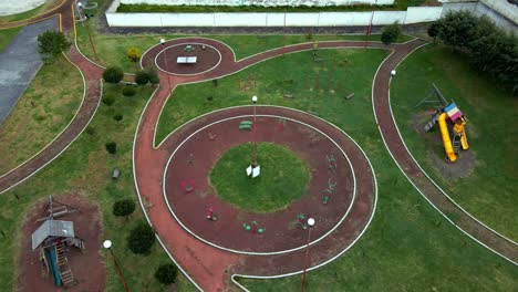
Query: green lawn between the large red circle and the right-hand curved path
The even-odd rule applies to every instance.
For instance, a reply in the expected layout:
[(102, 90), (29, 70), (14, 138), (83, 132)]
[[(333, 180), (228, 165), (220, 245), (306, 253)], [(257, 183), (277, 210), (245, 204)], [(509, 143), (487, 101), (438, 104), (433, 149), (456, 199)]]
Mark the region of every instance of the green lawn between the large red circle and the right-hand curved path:
[[(310, 53), (277, 58), (213, 82), (180, 86), (160, 117), (159, 135), (188, 119), (226, 106), (259, 103), (319, 112), (366, 152), (376, 171), (379, 201), (372, 225), (344, 255), (308, 273), (307, 291), (509, 291), (518, 285), (517, 268), (484, 249), (449, 225), (412, 187), (383, 146), (375, 127), (371, 82), (386, 53), (377, 50), (322, 51), (336, 60), (336, 75), (344, 81), (343, 94), (305, 90), (304, 74), (313, 72)], [(453, 61), (455, 62), (455, 61)], [(288, 67), (297, 70), (286, 70)], [(282, 75), (279, 76), (279, 72)], [(256, 76), (257, 87), (242, 92), (239, 81)], [(293, 80), (287, 82), (287, 80)], [(325, 84), (323, 80), (321, 84)], [(284, 100), (282, 92), (294, 95)], [(206, 96), (214, 95), (208, 102)], [(241, 280), (250, 291), (299, 291), (300, 277), (278, 280)]]

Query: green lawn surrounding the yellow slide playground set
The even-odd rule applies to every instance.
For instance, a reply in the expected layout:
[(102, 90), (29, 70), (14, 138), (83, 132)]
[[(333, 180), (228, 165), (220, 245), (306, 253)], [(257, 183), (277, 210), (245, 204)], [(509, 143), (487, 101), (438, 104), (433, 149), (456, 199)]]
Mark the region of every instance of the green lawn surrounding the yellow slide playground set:
[[(475, 154), (467, 177), (444, 177), (434, 160), (445, 156), (441, 133), (419, 134), (432, 106), (414, 107), (432, 91), (432, 82), (468, 118), (469, 149)], [(518, 101), (495, 81), (469, 66), (467, 59), (442, 45), (425, 46), (402, 63), (392, 83), (391, 102), (400, 131), (414, 157), (463, 208), (501, 234), (518, 240)], [(414, 123), (418, 119), (418, 125)], [(435, 143), (429, 137), (436, 136)]]

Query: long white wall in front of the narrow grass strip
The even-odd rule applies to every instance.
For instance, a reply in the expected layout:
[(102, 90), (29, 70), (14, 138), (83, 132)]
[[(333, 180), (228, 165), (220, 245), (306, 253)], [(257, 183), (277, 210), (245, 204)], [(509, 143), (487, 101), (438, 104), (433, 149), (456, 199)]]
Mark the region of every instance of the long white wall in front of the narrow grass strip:
[[(115, 4), (117, 1), (114, 1)], [(411, 24), (437, 20), (442, 7), (410, 8), (407, 11), (315, 12), (315, 13), (113, 13), (110, 27), (355, 27)]]

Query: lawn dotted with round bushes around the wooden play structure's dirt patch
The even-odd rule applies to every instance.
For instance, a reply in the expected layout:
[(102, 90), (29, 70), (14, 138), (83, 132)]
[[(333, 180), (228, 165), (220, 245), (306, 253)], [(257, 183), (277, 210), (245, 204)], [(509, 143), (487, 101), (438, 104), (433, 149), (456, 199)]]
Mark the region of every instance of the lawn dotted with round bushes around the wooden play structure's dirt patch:
[[(104, 85), (104, 97), (114, 96), (115, 103), (107, 106), (102, 103), (85, 132), (52, 164), (43, 168), (17, 188), (0, 196), (0, 227), (7, 239), (0, 240), (0, 282), (2, 286), (17, 290), (17, 270), (20, 248), (20, 228), (25, 211), (49, 195), (79, 194), (99, 205), (103, 234), (113, 241), (124, 277), (132, 291), (167, 291), (154, 278), (160, 263), (169, 258), (158, 242), (155, 242), (147, 257), (133, 254), (126, 247), (130, 230), (145, 220), (139, 207), (128, 220), (112, 215), (115, 200), (131, 198), (137, 200), (132, 171), (133, 138), (141, 113), (154, 87), (138, 87), (133, 97), (124, 97), (121, 92), (125, 85)], [(123, 119), (115, 122), (113, 116), (122, 114)], [(117, 153), (110, 155), (105, 150), (108, 142), (117, 143)], [(114, 167), (121, 169), (118, 180), (111, 178)], [(17, 200), (17, 196), (20, 200)], [(30, 240), (24, 238), (23, 240)], [(90, 252), (101, 252), (101, 242), (86, 242)], [(99, 244), (96, 247), (96, 244)], [(124, 291), (118, 274), (108, 258), (106, 291)], [(178, 291), (194, 291), (194, 286), (179, 273)]]

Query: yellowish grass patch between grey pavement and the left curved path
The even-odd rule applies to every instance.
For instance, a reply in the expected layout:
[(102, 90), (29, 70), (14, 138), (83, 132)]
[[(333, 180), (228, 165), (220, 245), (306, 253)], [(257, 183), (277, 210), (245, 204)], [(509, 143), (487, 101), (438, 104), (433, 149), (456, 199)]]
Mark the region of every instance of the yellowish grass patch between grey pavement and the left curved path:
[(63, 55), (44, 64), (0, 125), (0, 174), (19, 166), (53, 140), (72, 121), (83, 93), (81, 73)]

